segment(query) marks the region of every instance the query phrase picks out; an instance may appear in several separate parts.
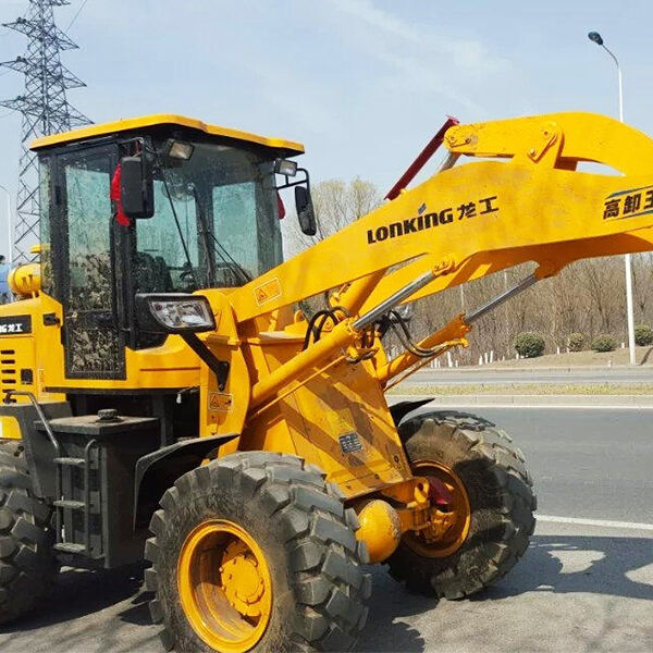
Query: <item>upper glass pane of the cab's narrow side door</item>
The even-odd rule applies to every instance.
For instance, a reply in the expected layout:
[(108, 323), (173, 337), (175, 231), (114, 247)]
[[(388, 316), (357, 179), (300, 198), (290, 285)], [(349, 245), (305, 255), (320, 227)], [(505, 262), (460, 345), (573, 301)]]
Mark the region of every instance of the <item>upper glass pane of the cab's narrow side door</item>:
[(63, 165), (71, 310), (111, 307), (111, 200), (106, 152)]

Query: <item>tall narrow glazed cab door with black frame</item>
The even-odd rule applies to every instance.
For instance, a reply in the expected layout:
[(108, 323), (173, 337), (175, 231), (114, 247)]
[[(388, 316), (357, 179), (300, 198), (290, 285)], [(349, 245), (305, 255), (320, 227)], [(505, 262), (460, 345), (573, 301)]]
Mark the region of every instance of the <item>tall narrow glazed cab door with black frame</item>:
[[(115, 146), (58, 157), (63, 243), (63, 337), (69, 379), (124, 379), (125, 337), (119, 326), (115, 288), (116, 233), (110, 199)], [(128, 227), (120, 227), (128, 232)]]

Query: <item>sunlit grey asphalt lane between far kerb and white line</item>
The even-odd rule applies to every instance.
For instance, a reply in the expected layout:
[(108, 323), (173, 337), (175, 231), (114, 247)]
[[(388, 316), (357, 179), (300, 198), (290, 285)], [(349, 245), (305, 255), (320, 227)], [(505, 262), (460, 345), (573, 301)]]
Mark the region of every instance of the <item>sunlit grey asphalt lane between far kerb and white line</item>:
[(467, 410), (514, 438), (543, 515), (653, 523), (653, 409)]

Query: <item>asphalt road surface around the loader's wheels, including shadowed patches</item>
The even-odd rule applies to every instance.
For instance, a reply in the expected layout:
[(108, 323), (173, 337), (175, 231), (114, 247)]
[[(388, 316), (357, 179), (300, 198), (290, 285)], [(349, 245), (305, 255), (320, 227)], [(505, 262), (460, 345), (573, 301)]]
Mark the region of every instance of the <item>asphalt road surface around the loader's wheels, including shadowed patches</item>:
[[(653, 651), (653, 410), (480, 411), (523, 449), (541, 515), (643, 526), (541, 521), (517, 567), (468, 601), (409, 594), (375, 567), (358, 650)], [(0, 631), (0, 650), (161, 651), (146, 600), (137, 578), (65, 571), (38, 615)]]

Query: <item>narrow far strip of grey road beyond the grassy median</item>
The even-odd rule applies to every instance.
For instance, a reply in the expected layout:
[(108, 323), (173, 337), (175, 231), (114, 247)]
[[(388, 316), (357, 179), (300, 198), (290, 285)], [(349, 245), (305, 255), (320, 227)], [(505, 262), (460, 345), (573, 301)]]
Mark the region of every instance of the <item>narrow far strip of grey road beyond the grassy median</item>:
[(403, 382), (405, 385), (476, 385), (510, 383), (653, 383), (653, 366), (613, 368), (422, 369)]

